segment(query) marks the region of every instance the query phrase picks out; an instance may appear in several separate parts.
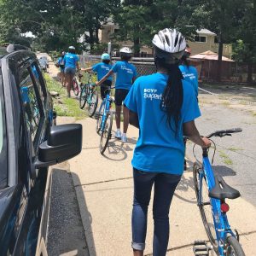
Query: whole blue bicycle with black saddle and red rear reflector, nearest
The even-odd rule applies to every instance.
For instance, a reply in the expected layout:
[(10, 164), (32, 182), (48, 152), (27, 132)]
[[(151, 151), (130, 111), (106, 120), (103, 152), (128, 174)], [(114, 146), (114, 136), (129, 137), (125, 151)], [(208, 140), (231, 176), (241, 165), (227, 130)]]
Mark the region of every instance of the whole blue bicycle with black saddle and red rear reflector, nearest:
[[(231, 133), (235, 132), (241, 132), (241, 128), (215, 131), (208, 135), (207, 138), (231, 136)], [(216, 144), (213, 141), (212, 143), (214, 148), (213, 163)], [(223, 177), (214, 175), (208, 158), (208, 150), (208, 148), (202, 148), (202, 162), (200, 162), (195, 156), (195, 145), (193, 148), (193, 154), (196, 159), (193, 166), (195, 195), (202, 222), (215, 253), (220, 256), (244, 256), (245, 253), (239, 243), (239, 234), (237, 230), (234, 232), (230, 228), (227, 216), (230, 207), (225, 202), (225, 199), (236, 199), (240, 196), (240, 192), (225, 183)], [(202, 243), (199, 242), (198, 245), (202, 245)], [(196, 249), (194, 252), (196, 252)]]

